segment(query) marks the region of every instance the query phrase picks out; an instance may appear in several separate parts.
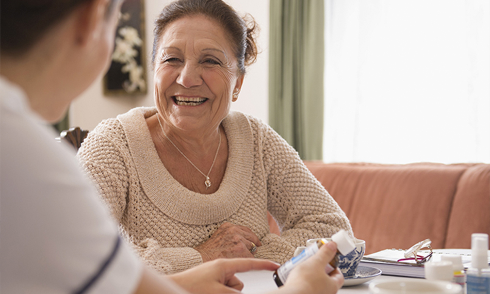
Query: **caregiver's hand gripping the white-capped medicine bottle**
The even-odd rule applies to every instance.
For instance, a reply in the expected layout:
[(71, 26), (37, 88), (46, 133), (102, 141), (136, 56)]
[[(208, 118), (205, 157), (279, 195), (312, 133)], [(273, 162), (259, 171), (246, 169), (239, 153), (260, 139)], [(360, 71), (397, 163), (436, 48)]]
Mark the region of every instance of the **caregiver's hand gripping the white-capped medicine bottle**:
[(321, 246), (315, 255), (290, 272), (278, 293), (337, 293), (343, 285), (342, 272), (339, 269), (329, 274), (325, 272), (325, 267), (336, 253), (337, 245), (334, 242)]

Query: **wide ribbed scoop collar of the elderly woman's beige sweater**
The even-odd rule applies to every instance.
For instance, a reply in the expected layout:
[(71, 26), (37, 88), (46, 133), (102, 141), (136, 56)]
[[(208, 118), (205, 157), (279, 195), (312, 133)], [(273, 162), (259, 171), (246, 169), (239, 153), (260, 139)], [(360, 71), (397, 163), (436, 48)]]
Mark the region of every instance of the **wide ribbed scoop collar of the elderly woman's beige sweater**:
[(228, 140), (228, 161), (220, 188), (200, 194), (182, 186), (163, 165), (145, 118), (155, 107), (138, 107), (119, 115), (129, 151), (147, 197), (169, 217), (188, 224), (211, 224), (233, 215), (244, 201), (252, 179), (253, 137), (244, 114), (230, 112), (221, 123)]

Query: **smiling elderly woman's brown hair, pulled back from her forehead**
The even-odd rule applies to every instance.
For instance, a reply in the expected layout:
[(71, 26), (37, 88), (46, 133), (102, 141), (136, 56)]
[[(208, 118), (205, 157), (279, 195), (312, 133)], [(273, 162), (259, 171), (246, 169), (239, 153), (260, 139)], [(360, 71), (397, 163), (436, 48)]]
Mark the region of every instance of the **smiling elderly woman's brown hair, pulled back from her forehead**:
[(258, 26), (253, 18), (250, 17), (246, 21), (222, 0), (178, 0), (167, 5), (155, 21), (152, 64), (155, 64), (158, 44), (167, 25), (180, 18), (193, 15), (204, 15), (222, 25), (235, 51), (238, 69), (241, 73), (245, 73), (245, 67), (257, 59), (255, 37)]

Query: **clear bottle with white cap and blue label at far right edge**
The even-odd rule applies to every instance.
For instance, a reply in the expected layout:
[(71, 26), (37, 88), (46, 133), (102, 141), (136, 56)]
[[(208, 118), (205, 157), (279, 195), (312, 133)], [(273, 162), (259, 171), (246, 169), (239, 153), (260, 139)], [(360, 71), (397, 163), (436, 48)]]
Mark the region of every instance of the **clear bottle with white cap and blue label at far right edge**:
[(488, 250), (488, 234), (471, 235), (471, 268), (466, 270), (467, 294), (490, 294)]

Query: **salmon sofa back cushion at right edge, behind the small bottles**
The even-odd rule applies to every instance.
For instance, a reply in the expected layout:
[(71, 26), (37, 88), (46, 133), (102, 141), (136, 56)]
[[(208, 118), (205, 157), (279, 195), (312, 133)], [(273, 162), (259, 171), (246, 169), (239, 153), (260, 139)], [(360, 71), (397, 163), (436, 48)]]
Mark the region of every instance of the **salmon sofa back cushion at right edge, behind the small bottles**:
[(472, 233), (490, 234), (490, 165), (469, 167), (461, 176), (447, 226), (445, 248), (471, 248)]

